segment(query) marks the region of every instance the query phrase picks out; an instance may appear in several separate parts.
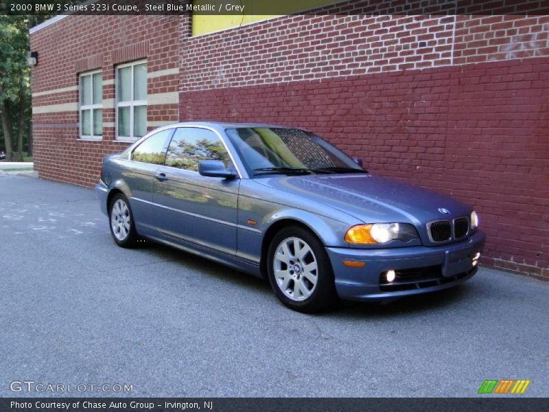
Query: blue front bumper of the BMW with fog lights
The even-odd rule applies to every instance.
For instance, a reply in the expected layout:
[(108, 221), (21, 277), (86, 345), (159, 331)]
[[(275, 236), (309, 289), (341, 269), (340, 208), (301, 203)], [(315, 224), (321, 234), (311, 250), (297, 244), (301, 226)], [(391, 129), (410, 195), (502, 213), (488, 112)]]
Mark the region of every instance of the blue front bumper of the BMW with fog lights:
[[(485, 241), (484, 233), (476, 231), (467, 240), (439, 247), (327, 247), (326, 250), (341, 299), (379, 301), (429, 293), (465, 282), (477, 271), (473, 259), (482, 252)], [(344, 260), (366, 265), (349, 267)], [(390, 283), (382, 277), (389, 270), (397, 273), (395, 281)]]

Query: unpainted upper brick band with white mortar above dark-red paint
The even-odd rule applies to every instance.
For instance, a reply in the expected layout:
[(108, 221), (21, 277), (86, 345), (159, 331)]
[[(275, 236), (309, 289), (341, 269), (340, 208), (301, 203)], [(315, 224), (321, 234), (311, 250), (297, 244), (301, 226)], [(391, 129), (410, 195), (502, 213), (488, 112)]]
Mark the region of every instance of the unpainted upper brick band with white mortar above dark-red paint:
[(284, 16), (183, 36), (181, 91), (549, 56), (549, 16)]

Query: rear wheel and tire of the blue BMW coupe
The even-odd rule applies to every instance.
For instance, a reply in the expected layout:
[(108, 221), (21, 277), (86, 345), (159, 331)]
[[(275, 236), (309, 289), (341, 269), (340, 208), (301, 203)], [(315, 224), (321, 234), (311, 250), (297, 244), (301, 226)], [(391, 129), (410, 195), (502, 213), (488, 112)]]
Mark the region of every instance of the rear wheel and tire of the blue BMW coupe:
[(137, 246), (139, 235), (135, 230), (130, 202), (124, 194), (115, 194), (112, 201), (110, 201), (108, 223), (110, 234), (119, 247), (132, 248)]

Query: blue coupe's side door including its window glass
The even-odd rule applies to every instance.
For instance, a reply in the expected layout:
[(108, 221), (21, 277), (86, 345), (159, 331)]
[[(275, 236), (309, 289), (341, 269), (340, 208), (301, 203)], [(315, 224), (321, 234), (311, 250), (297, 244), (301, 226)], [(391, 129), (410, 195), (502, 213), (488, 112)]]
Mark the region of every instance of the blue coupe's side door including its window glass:
[(198, 163), (209, 159), (230, 167), (217, 133), (207, 128), (176, 129), (152, 187), (152, 201), (163, 209), (159, 230), (167, 238), (235, 255), (240, 179), (201, 176)]

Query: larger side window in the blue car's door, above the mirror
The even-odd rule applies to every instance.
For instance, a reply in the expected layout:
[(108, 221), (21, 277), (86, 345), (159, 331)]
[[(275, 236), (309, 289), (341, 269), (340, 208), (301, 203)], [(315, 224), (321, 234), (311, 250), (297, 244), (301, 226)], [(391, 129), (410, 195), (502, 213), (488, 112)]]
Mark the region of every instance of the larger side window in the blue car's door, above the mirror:
[(166, 165), (198, 172), (201, 160), (221, 160), (229, 166), (229, 153), (211, 130), (178, 128), (167, 149)]

